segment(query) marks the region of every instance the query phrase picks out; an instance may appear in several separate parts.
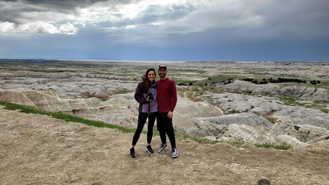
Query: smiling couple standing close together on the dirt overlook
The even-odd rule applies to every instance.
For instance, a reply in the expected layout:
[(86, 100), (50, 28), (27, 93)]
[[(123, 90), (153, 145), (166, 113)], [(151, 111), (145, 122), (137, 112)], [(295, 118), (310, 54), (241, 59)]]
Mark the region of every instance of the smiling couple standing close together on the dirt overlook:
[(177, 157), (176, 140), (174, 127), (172, 126), (172, 115), (177, 103), (177, 90), (175, 81), (166, 77), (167, 66), (159, 65), (158, 74), (160, 80), (155, 81), (156, 72), (153, 68), (146, 71), (142, 76), (143, 81), (137, 86), (135, 99), (139, 103), (138, 124), (135, 131), (132, 148), (130, 149), (130, 157), (135, 157), (135, 145), (143, 130), (146, 119), (147, 125), (147, 145), (146, 150), (153, 153), (151, 140), (153, 136), (153, 126), (157, 119), (157, 129), (160, 134), (161, 142), (158, 152), (163, 152), (168, 148), (166, 143), (166, 134), (168, 135), (171, 145), (171, 157)]

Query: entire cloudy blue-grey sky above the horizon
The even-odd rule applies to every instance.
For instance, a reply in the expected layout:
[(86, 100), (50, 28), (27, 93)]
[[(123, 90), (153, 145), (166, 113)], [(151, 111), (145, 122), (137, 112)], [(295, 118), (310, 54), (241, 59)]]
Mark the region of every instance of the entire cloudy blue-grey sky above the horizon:
[(0, 0), (0, 58), (329, 61), (328, 0)]

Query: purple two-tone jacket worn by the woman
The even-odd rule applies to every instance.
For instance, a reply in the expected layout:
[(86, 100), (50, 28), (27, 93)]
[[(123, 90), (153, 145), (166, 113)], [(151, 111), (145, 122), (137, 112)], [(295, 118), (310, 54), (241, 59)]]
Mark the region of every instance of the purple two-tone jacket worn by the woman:
[[(146, 101), (146, 94), (143, 93), (143, 81), (137, 85), (135, 91), (135, 100), (139, 103), (139, 112), (148, 112), (148, 102)], [(154, 101), (150, 102), (151, 110), (150, 112), (158, 112), (158, 103), (157, 103), (157, 83), (155, 80), (153, 81), (150, 89), (148, 90), (147, 94), (151, 92), (153, 94)]]

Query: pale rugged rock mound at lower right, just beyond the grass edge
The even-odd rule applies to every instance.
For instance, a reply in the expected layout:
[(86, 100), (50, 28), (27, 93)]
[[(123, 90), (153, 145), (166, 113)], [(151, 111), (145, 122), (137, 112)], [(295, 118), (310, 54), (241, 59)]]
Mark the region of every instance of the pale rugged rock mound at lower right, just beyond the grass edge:
[(268, 127), (231, 124), (224, 127), (223, 132), (216, 139), (239, 139), (247, 142), (305, 147), (309, 144), (316, 146), (318, 145), (316, 142), (329, 139), (329, 130), (313, 125), (297, 125), (293, 123), (291, 118), (282, 117), (278, 123)]

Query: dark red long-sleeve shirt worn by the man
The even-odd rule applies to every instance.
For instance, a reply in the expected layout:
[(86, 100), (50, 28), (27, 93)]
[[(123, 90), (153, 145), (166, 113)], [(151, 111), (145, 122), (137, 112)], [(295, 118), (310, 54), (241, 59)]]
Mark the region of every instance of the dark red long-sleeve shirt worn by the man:
[(166, 78), (157, 80), (157, 102), (159, 112), (173, 112), (177, 103), (175, 81)]

